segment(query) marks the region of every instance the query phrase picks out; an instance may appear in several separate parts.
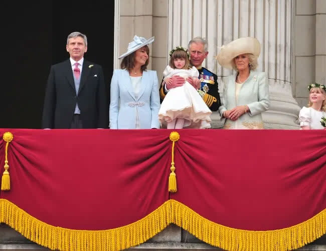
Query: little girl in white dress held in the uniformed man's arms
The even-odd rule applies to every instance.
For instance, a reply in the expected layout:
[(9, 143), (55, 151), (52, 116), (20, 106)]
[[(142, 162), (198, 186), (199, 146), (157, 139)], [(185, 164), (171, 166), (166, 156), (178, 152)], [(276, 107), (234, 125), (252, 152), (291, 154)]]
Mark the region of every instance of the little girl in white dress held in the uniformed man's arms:
[[(188, 49), (178, 46), (170, 51), (170, 56), (169, 65), (163, 72), (165, 78), (176, 74), (185, 79), (198, 79), (197, 68), (190, 68)], [(158, 119), (161, 127), (168, 129), (210, 128), (211, 113), (196, 88), (185, 81), (184, 85), (169, 89), (158, 111)]]

